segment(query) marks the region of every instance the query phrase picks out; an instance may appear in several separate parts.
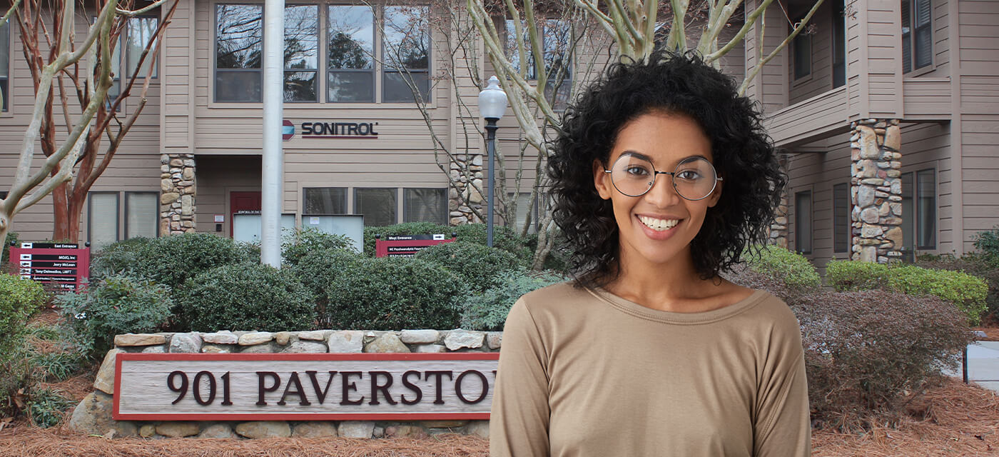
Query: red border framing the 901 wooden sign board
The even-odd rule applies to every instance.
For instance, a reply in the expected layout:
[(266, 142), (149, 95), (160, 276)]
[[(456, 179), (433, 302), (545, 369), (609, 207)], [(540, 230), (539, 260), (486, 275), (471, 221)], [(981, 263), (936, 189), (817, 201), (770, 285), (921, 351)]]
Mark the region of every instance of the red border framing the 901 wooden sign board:
[(285, 361), (285, 360), (500, 360), (499, 352), (452, 353), (295, 353), (295, 354), (141, 354), (123, 352), (115, 356), (114, 420), (131, 421), (422, 421), (422, 420), (489, 420), (490, 413), (254, 413), (254, 414), (122, 414), (122, 362), (127, 360), (219, 360), (219, 361)]

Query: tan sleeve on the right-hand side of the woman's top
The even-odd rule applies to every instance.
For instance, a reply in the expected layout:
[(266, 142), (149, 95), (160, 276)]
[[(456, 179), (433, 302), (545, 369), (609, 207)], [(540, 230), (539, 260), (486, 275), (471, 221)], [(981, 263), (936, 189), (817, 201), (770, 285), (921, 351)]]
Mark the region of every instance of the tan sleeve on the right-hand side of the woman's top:
[(801, 331), (794, 315), (771, 338), (757, 394), (753, 455), (807, 457), (811, 454), (808, 381)]

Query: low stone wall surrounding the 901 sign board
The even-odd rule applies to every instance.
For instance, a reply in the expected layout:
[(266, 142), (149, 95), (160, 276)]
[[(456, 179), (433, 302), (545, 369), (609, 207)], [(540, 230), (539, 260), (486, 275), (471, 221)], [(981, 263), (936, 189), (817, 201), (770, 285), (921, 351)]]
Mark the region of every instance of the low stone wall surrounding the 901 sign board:
[(94, 392), (77, 405), (69, 426), (81, 433), (144, 438), (381, 438), (437, 433), (489, 438), (489, 421), (115, 421), (115, 357), (141, 353), (361, 353), (498, 352), (502, 332), (457, 330), (314, 330), (304, 332), (148, 333), (115, 336), (94, 381)]

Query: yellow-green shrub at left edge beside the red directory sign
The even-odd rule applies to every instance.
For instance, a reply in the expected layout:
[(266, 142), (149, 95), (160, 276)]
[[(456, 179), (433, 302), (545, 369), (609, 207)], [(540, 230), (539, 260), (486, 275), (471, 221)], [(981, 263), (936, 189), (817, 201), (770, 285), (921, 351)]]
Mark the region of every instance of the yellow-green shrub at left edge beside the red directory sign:
[(0, 353), (6, 352), (24, 332), (28, 318), (45, 304), (42, 285), (0, 273)]

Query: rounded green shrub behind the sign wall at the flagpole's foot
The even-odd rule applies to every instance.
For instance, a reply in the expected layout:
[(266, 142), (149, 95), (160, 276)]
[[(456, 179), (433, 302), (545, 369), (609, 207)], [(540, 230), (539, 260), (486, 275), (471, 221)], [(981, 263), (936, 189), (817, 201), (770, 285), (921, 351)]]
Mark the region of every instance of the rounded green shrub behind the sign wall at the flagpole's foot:
[(292, 271), (223, 265), (189, 279), (178, 293), (187, 331), (311, 330), (314, 297)]

